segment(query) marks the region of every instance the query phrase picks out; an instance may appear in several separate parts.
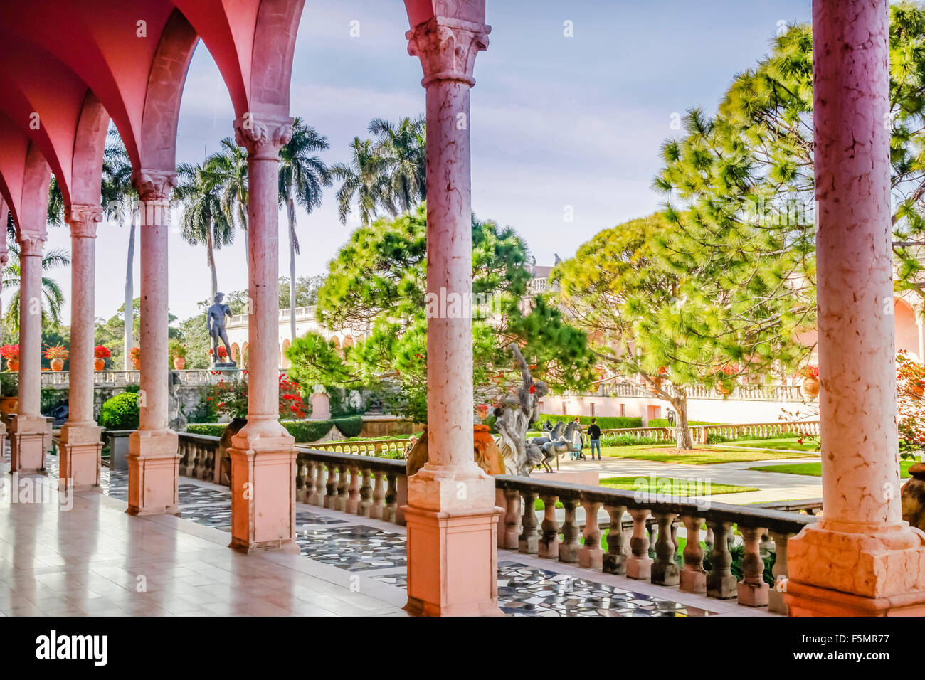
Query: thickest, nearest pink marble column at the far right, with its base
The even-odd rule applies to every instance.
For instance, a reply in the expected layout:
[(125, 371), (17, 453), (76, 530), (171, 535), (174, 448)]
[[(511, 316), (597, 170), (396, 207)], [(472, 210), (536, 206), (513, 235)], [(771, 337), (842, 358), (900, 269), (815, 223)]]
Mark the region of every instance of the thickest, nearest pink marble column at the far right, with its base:
[(925, 613), (896, 438), (887, 0), (814, 0), (824, 516), (788, 542), (795, 615)]

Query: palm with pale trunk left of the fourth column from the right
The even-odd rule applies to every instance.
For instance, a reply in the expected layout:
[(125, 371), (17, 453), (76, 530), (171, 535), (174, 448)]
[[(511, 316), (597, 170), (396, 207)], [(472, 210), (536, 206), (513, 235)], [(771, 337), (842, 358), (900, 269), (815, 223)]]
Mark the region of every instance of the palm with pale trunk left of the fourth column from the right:
[(121, 227), (125, 215), (129, 213), (129, 249), (125, 269), (125, 316), (123, 319), (123, 339), (125, 351), (123, 352), (123, 368), (129, 370), (129, 352), (135, 345), (134, 339), (134, 308), (132, 301), (135, 298), (133, 271), (135, 266), (135, 227), (139, 211), (135, 189), (131, 185), (131, 161), (122, 139), (115, 128), (110, 127), (107, 133), (105, 150), (103, 152), (103, 208), (106, 216), (115, 218)]

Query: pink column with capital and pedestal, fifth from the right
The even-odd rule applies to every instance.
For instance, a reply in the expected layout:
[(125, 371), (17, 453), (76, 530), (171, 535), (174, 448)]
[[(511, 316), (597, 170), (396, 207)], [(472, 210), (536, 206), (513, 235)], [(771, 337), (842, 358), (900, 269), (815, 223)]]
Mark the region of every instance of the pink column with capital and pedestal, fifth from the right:
[(68, 422), (58, 442), (60, 486), (97, 487), (103, 442), (93, 420), (93, 302), (96, 283), (96, 224), (103, 219), (99, 205), (72, 205), (70, 225), (70, 355)]

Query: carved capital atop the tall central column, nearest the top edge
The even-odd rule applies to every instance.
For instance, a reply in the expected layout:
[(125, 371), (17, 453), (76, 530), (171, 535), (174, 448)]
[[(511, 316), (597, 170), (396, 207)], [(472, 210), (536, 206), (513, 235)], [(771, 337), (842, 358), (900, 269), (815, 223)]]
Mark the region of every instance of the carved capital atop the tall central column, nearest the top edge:
[(475, 56), (488, 49), (485, 24), (434, 17), (405, 33), (408, 54), (421, 59), (425, 87), (435, 80), (458, 80), (475, 85)]

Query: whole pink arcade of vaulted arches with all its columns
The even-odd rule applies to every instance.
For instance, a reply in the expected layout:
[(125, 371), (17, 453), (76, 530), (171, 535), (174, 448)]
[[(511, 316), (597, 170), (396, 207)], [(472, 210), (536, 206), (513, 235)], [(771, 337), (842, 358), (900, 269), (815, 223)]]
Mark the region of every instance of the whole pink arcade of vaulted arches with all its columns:
[[(72, 238), (70, 419), (61, 478), (99, 481), (93, 422), (94, 238), (110, 119), (143, 204), (141, 425), (130, 438), (129, 513), (176, 513), (178, 437), (167, 427), (168, 225), (179, 103), (193, 50), (215, 57), (250, 177), (248, 423), (232, 439), (231, 548), (296, 550), (295, 451), (278, 423), (278, 152), (290, 139), (296, 33), (323, 0), (32, 0), (0, 4), (0, 219), (21, 247), (23, 299), (41, 294), (54, 174)], [(489, 3), (492, 0), (489, 0)], [(395, 2), (396, 11), (401, 5)], [(488, 47), (486, 0), (405, 0), (427, 123), (428, 290), (472, 286), (469, 119), (475, 58)], [(902, 521), (895, 438), (887, 0), (814, 0), (819, 214), (820, 411), (825, 516), (789, 541), (786, 599), (798, 615), (925, 609), (925, 537)], [(851, 46), (845, 50), (843, 45)], [(35, 121), (41, 121), (36, 125)], [(230, 131), (231, 129), (229, 129)], [(619, 133), (617, 130), (614, 134)], [(4, 257), (6, 259), (6, 257)], [(13, 471), (44, 468), (41, 322), (21, 305)], [(898, 316), (908, 310), (897, 305)], [(914, 324), (915, 318), (911, 317)], [(905, 323), (905, 322), (904, 322)], [(918, 347), (904, 326), (900, 342)], [(430, 462), (408, 481), (408, 610), (497, 614), (495, 484), (473, 462), (472, 329), (431, 319)], [(262, 339), (272, 339), (270, 341)], [(465, 488), (465, 493), (459, 489)], [(245, 493), (245, 489), (247, 492)], [(16, 517), (14, 515), (14, 521)]]

